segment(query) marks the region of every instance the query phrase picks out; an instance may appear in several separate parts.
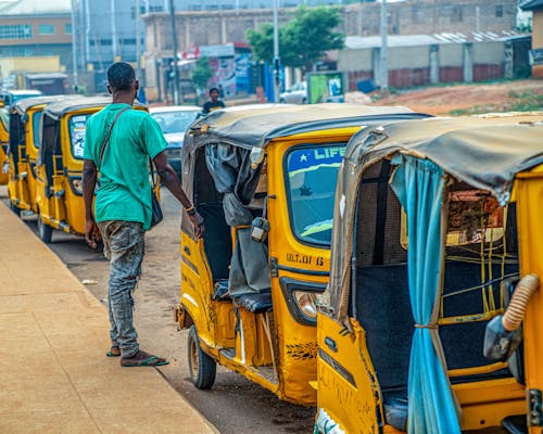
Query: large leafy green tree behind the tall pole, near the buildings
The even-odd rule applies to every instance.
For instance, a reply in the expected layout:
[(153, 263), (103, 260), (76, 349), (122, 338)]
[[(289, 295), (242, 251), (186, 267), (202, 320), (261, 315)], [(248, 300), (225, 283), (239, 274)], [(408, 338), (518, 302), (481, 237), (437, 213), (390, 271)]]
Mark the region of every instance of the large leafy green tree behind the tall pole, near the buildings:
[[(311, 71), (328, 50), (345, 44), (345, 35), (333, 31), (341, 23), (338, 9), (319, 7), (296, 10), (294, 18), (279, 28), (279, 55), (285, 66)], [(260, 31), (248, 30), (247, 38), (257, 60), (274, 59), (274, 26), (266, 23)]]

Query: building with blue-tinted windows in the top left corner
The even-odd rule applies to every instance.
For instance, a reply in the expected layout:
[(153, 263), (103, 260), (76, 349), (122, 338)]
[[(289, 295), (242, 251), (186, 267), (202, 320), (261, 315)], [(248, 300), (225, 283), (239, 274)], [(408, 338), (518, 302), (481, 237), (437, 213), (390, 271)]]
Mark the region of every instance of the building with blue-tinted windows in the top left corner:
[(0, 1), (0, 79), (72, 71), (71, 0)]

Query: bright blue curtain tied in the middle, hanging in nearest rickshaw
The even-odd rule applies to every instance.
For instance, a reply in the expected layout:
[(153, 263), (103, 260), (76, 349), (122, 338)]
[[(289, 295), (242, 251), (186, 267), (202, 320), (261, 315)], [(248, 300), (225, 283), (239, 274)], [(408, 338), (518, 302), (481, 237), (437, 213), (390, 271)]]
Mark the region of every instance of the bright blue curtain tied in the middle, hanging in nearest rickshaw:
[[(407, 215), (407, 267), (415, 328), (409, 360), (408, 432), (460, 433), (438, 331), (445, 177), (429, 159), (397, 154), (391, 188)], [(428, 327), (430, 326), (430, 327)], [(441, 356), (441, 357), (440, 357)]]

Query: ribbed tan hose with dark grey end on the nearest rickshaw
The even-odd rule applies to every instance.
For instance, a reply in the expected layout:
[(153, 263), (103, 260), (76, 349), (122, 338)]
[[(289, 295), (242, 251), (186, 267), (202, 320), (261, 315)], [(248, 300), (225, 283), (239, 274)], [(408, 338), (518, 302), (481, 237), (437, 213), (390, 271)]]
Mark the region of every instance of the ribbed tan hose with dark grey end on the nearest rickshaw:
[(525, 318), (526, 308), (531, 295), (540, 288), (535, 275), (527, 275), (517, 283), (509, 305), (504, 315), (493, 318), (487, 324), (484, 333), (484, 357), (491, 360), (507, 360), (522, 341), (520, 323)]

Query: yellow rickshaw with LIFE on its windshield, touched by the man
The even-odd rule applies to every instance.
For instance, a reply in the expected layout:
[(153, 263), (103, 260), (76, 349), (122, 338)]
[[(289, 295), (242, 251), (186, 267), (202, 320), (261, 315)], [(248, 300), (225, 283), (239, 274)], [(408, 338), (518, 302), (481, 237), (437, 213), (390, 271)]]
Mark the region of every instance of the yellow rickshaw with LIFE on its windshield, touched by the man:
[(181, 219), (176, 321), (190, 328), (199, 388), (216, 363), (280, 399), (314, 404), (315, 298), (329, 275), (333, 192), (344, 146), (361, 127), (426, 115), (351, 104), (254, 105), (192, 124), (182, 187), (205, 219)]

